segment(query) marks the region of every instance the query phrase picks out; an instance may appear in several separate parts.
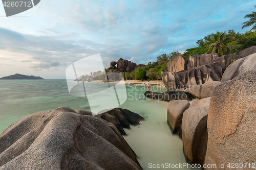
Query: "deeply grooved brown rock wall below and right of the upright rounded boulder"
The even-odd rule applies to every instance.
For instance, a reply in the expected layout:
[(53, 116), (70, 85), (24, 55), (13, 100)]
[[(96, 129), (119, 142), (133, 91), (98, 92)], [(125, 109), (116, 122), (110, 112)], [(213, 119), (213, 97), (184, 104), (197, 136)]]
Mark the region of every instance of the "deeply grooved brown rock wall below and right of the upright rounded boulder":
[[(170, 66), (168, 66), (167, 72), (162, 70), (162, 79), (167, 90), (188, 88), (189, 85), (199, 85), (206, 82), (221, 81), (225, 69), (232, 63), (231, 59), (239, 58), (237, 54), (225, 55), (219, 58), (216, 54), (190, 55), (190, 57), (187, 64), (187, 68), (189, 69), (176, 72), (170, 71)], [(184, 63), (183, 59), (177, 62)], [(172, 64), (175, 65), (175, 63)]]

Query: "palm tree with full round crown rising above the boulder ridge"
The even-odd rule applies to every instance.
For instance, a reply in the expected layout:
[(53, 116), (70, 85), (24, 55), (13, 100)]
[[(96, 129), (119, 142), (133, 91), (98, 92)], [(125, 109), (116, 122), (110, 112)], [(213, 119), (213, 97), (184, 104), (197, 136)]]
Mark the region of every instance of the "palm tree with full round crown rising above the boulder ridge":
[[(226, 37), (225, 32), (220, 33), (217, 31), (217, 34), (214, 34), (214, 36), (210, 37), (211, 41), (204, 42), (205, 44), (209, 43), (209, 51), (212, 53), (218, 51), (218, 54), (220, 56), (224, 55), (225, 52), (229, 52), (229, 48), (224, 44), (225, 41), (229, 41), (231, 39), (234, 39), (233, 37)], [(206, 53), (207, 53), (206, 52)]]

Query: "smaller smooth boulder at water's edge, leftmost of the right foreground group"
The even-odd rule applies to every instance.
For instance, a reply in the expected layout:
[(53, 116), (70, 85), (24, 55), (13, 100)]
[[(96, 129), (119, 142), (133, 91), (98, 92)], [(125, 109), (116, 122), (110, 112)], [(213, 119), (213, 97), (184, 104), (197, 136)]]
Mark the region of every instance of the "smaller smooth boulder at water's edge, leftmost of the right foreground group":
[(188, 101), (170, 101), (167, 107), (167, 124), (173, 134), (181, 134), (183, 112), (190, 106)]

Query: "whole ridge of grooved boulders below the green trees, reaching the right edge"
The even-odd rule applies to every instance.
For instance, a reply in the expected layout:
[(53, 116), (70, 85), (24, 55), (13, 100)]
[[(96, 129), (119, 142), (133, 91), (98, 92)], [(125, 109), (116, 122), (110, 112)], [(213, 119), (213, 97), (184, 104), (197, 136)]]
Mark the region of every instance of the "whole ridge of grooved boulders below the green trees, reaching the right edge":
[[(245, 57), (256, 53), (256, 46), (247, 48), (237, 54), (219, 57), (218, 54), (190, 55), (189, 58), (175, 55), (169, 60), (165, 70), (162, 70), (162, 79), (167, 90), (187, 88), (190, 85), (201, 85), (206, 82), (221, 81), (226, 68), (239, 60), (234, 67), (240, 67)], [(247, 59), (248, 62), (249, 59)], [(246, 60), (245, 60), (246, 61)], [(242, 68), (239, 70), (241, 71)], [(233, 76), (236, 73), (232, 72)], [(239, 74), (239, 72), (237, 73)], [(227, 77), (230, 75), (225, 75)]]

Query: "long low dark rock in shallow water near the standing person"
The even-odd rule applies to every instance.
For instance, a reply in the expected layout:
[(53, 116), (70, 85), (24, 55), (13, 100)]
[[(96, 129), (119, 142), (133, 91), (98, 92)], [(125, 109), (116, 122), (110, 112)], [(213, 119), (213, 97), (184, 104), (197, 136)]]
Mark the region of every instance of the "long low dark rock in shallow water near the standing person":
[(194, 95), (185, 91), (165, 91), (163, 93), (146, 91), (144, 95), (148, 98), (152, 98), (160, 101), (173, 101), (173, 100), (187, 100), (191, 101), (196, 99)]

